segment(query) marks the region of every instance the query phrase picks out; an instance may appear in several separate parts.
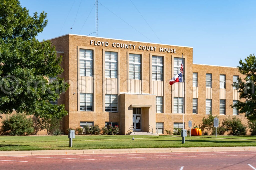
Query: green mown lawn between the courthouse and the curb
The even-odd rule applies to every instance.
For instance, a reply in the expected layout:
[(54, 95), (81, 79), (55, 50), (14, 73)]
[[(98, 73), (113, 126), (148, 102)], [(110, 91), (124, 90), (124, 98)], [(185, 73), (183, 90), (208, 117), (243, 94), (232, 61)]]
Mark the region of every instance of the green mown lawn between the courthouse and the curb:
[(181, 143), (181, 137), (179, 136), (134, 136), (134, 138), (135, 140), (132, 140), (132, 136), (124, 135), (76, 135), (71, 148), (67, 135), (0, 136), (0, 151), (256, 146), (256, 136), (218, 136), (217, 139), (215, 136), (186, 137), (185, 144)]

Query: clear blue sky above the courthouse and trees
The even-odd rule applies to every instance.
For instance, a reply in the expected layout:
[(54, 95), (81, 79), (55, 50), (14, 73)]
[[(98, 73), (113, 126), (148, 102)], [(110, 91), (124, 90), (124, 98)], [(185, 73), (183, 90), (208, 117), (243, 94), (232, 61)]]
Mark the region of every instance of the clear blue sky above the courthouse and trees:
[[(100, 37), (192, 46), (193, 63), (199, 64), (236, 67), (240, 58), (256, 54), (256, 1), (132, 2), (99, 0)], [(30, 15), (35, 11), (47, 12), (48, 25), (37, 36), (39, 41), (95, 31), (94, 0), (20, 0), (20, 3)]]

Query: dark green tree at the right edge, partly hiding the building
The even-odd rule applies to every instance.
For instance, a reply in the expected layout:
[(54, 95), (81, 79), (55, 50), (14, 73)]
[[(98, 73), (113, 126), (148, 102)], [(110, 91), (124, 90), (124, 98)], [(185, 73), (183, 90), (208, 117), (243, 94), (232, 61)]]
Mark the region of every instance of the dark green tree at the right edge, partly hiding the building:
[(239, 87), (239, 100), (231, 107), (237, 108), (239, 113), (245, 113), (249, 120), (256, 120), (256, 58), (251, 54), (244, 61), (240, 59), (238, 70), (245, 75), (242, 80), (239, 77), (238, 83), (234, 83), (234, 87)]

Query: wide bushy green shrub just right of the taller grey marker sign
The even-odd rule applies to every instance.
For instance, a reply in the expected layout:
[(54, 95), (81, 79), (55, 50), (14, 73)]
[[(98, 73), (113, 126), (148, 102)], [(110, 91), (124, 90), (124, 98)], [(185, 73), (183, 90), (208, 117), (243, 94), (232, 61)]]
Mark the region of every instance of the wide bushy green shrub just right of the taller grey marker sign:
[(246, 135), (246, 126), (242, 124), (237, 117), (229, 117), (223, 121), (223, 126), (229, 132), (229, 135)]

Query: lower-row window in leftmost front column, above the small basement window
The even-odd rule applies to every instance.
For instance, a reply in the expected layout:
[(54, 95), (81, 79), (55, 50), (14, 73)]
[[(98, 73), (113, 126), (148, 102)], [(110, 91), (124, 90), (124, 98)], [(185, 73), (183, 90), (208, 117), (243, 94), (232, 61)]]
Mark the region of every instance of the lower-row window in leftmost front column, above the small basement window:
[(92, 111), (93, 99), (92, 93), (80, 93), (80, 110)]

